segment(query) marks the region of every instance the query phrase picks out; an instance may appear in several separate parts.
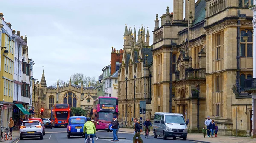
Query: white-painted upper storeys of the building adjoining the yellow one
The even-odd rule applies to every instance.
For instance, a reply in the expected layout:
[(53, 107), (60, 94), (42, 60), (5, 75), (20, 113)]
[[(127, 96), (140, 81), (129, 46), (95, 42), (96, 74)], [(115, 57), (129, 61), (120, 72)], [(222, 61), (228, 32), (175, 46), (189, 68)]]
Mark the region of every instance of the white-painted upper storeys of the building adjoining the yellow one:
[[(15, 39), (15, 50), (14, 50), (14, 94), (13, 101), (22, 103), (22, 58), (23, 58), (23, 46), (26, 42), (20, 37), (20, 31), (12, 32), (12, 37)], [(26, 101), (26, 99), (24, 100)]]

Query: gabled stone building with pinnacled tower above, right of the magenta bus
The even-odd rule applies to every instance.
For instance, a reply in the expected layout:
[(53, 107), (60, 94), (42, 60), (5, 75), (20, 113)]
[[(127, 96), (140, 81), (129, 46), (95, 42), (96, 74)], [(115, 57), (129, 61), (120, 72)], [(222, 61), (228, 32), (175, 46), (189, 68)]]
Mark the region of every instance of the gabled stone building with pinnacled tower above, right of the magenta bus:
[[(152, 118), (151, 112), (151, 74), (152, 47), (149, 46), (149, 31), (125, 27), (124, 50), (120, 70), (118, 71), (118, 103), (120, 121), (132, 124), (132, 118), (145, 118), (140, 114), (140, 101), (146, 101), (146, 118)], [(135, 85), (134, 85), (135, 84)], [(135, 88), (134, 88), (135, 87)], [(145, 89), (144, 89), (145, 87)], [(134, 91), (135, 89), (135, 91)]]

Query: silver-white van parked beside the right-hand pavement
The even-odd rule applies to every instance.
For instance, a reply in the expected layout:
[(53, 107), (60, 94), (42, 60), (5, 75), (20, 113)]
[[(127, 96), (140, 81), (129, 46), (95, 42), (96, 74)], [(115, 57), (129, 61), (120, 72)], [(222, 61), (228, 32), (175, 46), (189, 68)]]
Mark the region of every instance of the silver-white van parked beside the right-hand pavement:
[(161, 135), (164, 140), (167, 137), (172, 137), (174, 140), (180, 137), (186, 140), (187, 124), (188, 121), (185, 122), (182, 114), (157, 112), (154, 114), (153, 122), (154, 138)]

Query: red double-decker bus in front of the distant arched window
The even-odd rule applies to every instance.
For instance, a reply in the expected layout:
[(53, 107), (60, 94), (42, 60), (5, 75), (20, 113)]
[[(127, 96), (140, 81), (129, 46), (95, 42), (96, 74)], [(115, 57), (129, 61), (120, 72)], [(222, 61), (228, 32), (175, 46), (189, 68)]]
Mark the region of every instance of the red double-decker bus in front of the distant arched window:
[(55, 104), (52, 106), (51, 118), (52, 126), (67, 126), (67, 120), (70, 117), (70, 108), (68, 104)]

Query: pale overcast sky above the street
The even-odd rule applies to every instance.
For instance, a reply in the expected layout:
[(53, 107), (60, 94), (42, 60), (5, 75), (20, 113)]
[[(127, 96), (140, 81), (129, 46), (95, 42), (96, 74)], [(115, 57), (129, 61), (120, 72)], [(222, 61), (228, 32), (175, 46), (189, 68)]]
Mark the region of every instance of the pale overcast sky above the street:
[(125, 24), (136, 32), (149, 27), (150, 45), (156, 14), (173, 10), (173, 0), (0, 0), (0, 12), (12, 29), (27, 35), (34, 78), (47, 86), (73, 73), (94, 76), (110, 64), (111, 47), (123, 48)]

